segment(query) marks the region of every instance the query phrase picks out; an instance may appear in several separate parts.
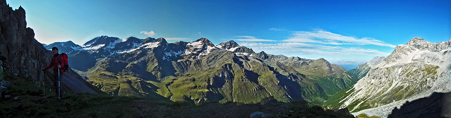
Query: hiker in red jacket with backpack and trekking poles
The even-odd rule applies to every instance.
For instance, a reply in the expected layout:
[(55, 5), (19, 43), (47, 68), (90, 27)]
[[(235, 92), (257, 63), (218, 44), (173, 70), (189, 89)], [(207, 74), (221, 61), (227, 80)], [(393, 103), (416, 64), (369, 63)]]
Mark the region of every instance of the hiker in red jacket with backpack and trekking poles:
[[(50, 64), (49, 64), (49, 66), (47, 66), (46, 68), (42, 68), (42, 70), (44, 71), (44, 70), (47, 70), (47, 69), (49, 69), (50, 67), (52, 67), (53, 66), (53, 78), (55, 78), (55, 80), (53, 81), (53, 86), (54, 86), (54, 88), (55, 88), (55, 92), (57, 93), (57, 95), (58, 95), (58, 91), (60, 91), (60, 89), (58, 89), (58, 87), (59, 87), (59, 84), (58, 84), (58, 82), (59, 82), (59, 76), (58, 76), (58, 68), (60, 68), (60, 76), (61, 76), (61, 74), (63, 74), (64, 73), (64, 70), (63, 69), (61, 69), (61, 67), (63, 67), (64, 66), (64, 58), (63, 58), (63, 55), (62, 54), (59, 54), (58, 53), (58, 48), (57, 47), (52, 47), (52, 52), (53, 52), (53, 56), (52, 56), (52, 61), (50, 62)], [(61, 89), (61, 91), (60, 91), (60, 96), (59, 97), (62, 97), (62, 92), (63, 90)]]

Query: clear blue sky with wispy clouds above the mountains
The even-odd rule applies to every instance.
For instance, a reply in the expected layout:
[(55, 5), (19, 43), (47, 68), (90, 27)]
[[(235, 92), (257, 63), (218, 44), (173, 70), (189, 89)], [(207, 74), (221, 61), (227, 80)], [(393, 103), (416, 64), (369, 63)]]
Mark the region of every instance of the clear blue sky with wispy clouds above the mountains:
[(451, 39), (450, 0), (7, 0), (42, 43), (101, 35), (235, 40), (256, 52), (364, 62)]

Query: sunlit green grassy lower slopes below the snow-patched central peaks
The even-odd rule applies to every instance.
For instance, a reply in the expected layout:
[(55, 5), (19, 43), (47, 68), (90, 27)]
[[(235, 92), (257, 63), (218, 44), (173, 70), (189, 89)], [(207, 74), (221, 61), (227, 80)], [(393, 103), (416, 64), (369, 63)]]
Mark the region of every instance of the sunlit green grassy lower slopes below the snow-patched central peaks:
[[(342, 81), (343, 75), (325, 75), (326, 71), (324, 70), (295, 70), (287, 69), (291, 67), (285, 66), (273, 70), (269, 68), (270, 66), (262, 65), (257, 61), (250, 61), (249, 63), (253, 66), (252, 70), (245, 69), (240, 64), (229, 62), (220, 67), (210, 67), (206, 71), (198, 70), (187, 75), (168, 76), (162, 82), (145, 81), (130, 75), (107, 72), (100, 68), (95, 73), (90, 72), (94, 74), (89, 77), (89, 81), (111, 95), (139, 95), (160, 98), (163, 96), (173, 101), (187, 100), (196, 103), (209, 101), (257, 103), (270, 97), (284, 102), (299, 100), (291, 99), (290, 95), (293, 97), (298, 95), (310, 101), (319, 102), (356, 82)], [(224, 68), (228, 70), (224, 70)], [(229, 81), (221, 80), (224, 78), (219, 78), (218, 75), (224, 71), (231, 71), (233, 78)], [(282, 73), (274, 73), (274, 71), (281, 71)], [(293, 76), (299, 79), (288, 80), (287, 76), (290, 73), (297, 73)], [(281, 82), (281, 80), (285, 81)], [(218, 81), (224, 83), (221, 86), (211, 87), (214, 82)], [(148, 86), (131, 84), (136, 82), (147, 83)], [(291, 91), (287, 91), (287, 87), (288, 89), (291, 87)]]

